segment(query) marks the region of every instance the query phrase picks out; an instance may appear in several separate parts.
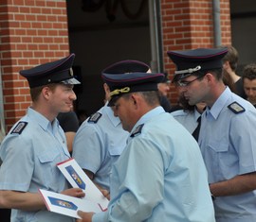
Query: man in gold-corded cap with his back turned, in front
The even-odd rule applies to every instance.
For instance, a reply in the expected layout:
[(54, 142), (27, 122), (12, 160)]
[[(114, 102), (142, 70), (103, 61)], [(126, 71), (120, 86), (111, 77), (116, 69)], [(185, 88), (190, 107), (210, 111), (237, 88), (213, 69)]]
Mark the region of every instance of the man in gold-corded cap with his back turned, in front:
[(200, 149), (159, 104), (163, 75), (102, 77), (110, 87), (109, 105), (130, 137), (112, 169), (108, 211), (79, 212), (78, 221), (215, 221)]

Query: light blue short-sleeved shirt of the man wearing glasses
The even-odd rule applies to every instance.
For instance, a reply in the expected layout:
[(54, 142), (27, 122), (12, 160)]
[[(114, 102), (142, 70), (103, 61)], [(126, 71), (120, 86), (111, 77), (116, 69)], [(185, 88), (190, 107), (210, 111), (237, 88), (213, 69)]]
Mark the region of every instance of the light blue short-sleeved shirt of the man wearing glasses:
[[(246, 111), (235, 113), (229, 104), (237, 102)], [(202, 115), (198, 141), (209, 182), (232, 179), (256, 170), (256, 110), (227, 88)], [(218, 196), (214, 200), (218, 222), (256, 221), (256, 192)]]

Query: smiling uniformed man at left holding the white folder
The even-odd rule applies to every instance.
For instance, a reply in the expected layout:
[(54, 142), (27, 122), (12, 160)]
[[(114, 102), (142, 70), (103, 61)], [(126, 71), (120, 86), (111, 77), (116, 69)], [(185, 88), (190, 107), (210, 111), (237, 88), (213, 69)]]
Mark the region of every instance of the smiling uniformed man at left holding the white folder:
[(11, 208), (11, 221), (71, 222), (73, 218), (46, 210), (38, 189), (69, 196), (84, 196), (81, 189), (68, 188), (57, 168), (70, 158), (64, 130), (56, 116), (70, 111), (76, 94), (71, 65), (74, 54), (22, 70), (27, 77), (32, 105), (10, 130), (0, 148), (0, 208)]

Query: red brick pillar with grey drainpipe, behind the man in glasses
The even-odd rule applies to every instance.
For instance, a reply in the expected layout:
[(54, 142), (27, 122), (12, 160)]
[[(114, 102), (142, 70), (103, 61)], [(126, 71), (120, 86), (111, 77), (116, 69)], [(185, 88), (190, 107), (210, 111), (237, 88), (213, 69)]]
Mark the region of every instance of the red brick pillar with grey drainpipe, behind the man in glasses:
[[(162, 0), (163, 51), (165, 70), (174, 73), (169, 50), (214, 47), (212, 0)], [(220, 0), (222, 44), (231, 43), (229, 0)], [(171, 85), (170, 98), (176, 102), (177, 93)]]

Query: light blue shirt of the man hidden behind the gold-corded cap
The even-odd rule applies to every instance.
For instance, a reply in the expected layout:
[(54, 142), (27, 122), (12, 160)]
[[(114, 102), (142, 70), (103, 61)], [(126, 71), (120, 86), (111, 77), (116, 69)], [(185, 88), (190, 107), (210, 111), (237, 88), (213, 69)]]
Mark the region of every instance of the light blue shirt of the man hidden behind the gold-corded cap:
[(94, 181), (109, 190), (109, 175), (126, 145), (129, 133), (122, 129), (119, 117), (107, 104), (95, 122), (82, 123), (73, 143), (73, 158), (82, 169), (94, 173)]

